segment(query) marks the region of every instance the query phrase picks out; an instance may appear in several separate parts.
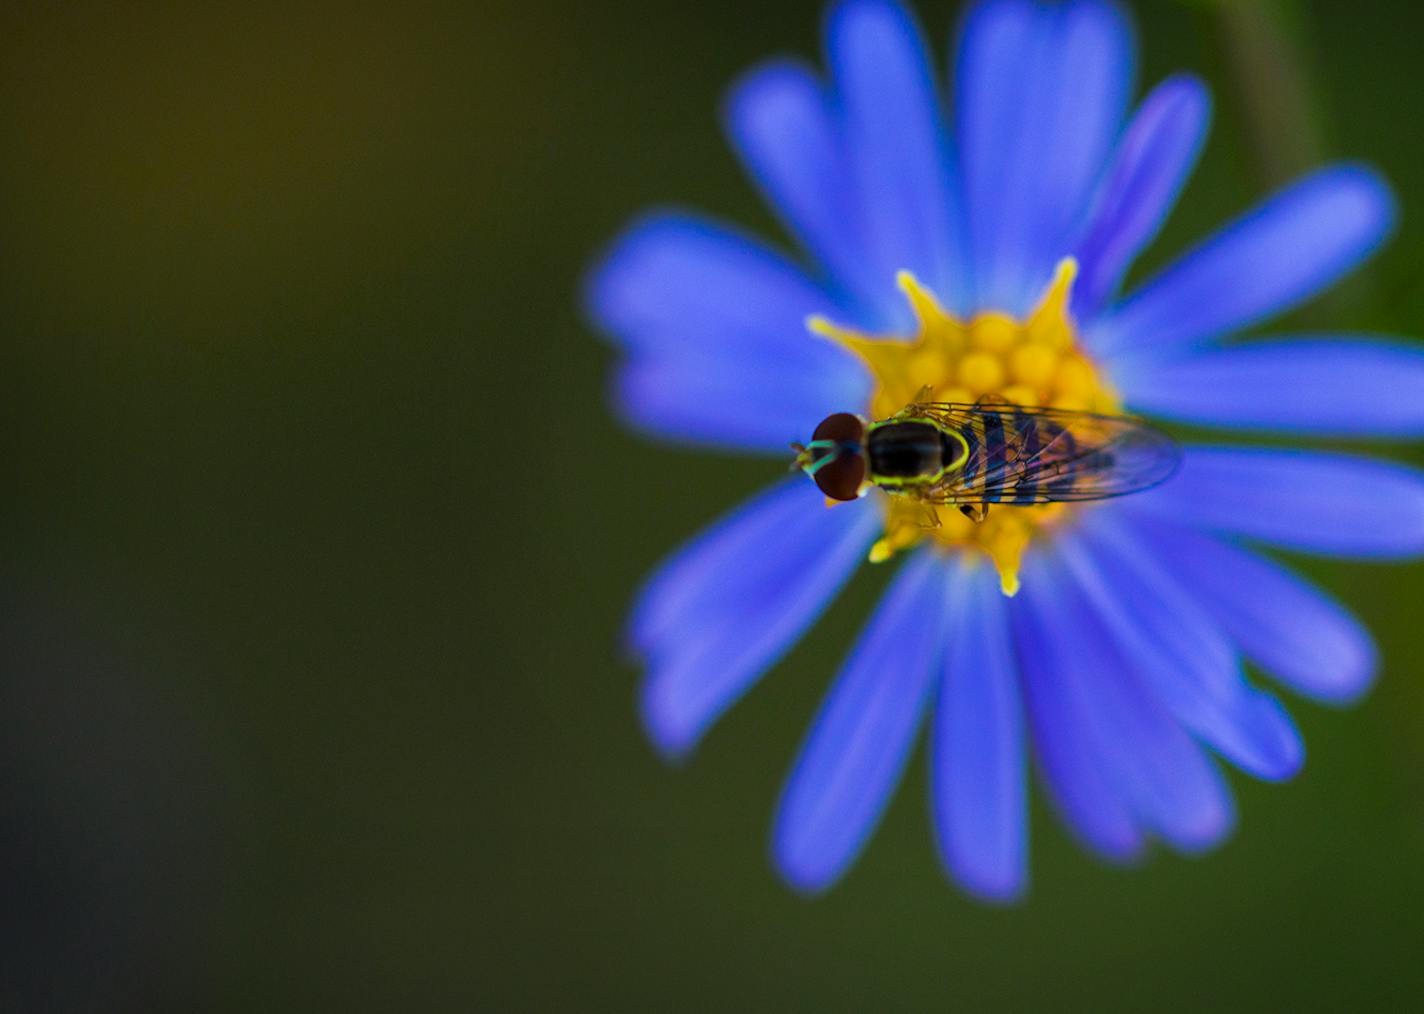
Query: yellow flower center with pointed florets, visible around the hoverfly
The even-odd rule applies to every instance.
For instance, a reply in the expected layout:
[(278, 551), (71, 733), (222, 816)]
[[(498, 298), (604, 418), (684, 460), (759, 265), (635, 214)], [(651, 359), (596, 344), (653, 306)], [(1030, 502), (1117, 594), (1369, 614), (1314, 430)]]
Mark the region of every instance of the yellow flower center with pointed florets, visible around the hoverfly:
[[(1061, 261), (1038, 308), (1024, 320), (990, 310), (961, 322), (903, 271), (896, 281), (910, 299), (918, 333), (870, 336), (819, 316), (807, 323), (853, 352), (870, 370), (871, 419), (893, 416), (920, 399), (926, 387), (936, 402), (973, 404), (987, 399), (1030, 409), (1116, 413), (1122, 407), (1116, 392), (1078, 347), (1068, 316), (1077, 273), (1072, 258)], [(884, 537), (870, 548), (871, 563), (931, 538), (944, 551), (977, 550), (993, 560), (1005, 595), (1018, 591), (1018, 565), (1032, 537), (1061, 523), (1068, 510), (1065, 504), (995, 506), (983, 521), (943, 510), (936, 528), (926, 527), (924, 506), (913, 497), (883, 494), (881, 501)]]

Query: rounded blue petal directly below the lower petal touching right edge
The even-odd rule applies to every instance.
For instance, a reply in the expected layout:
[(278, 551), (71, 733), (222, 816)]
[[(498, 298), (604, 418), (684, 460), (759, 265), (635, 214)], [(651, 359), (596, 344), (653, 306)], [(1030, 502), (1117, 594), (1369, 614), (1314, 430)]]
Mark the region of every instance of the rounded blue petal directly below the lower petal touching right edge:
[(1138, 521), (1202, 608), (1266, 672), (1317, 701), (1354, 701), (1374, 681), (1370, 632), (1323, 591), (1265, 557), (1163, 521)]

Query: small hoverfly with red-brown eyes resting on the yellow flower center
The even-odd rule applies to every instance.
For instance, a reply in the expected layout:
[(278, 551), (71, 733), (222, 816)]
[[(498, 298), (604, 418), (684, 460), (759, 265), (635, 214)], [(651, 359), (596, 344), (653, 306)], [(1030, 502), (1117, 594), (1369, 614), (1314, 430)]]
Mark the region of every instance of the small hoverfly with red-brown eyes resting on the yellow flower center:
[(830, 500), (879, 486), (918, 500), (933, 526), (941, 504), (983, 521), (991, 504), (1138, 493), (1169, 479), (1180, 459), (1169, 436), (1131, 416), (988, 402), (914, 402), (879, 422), (837, 412), (792, 449), (792, 467)]

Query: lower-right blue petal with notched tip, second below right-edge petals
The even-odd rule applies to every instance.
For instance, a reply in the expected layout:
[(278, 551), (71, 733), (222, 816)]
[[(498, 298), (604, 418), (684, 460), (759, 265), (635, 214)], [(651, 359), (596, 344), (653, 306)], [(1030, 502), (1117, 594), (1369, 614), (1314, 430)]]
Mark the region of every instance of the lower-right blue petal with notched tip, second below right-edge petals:
[(1292, 778), (1304, 763), (1304, 745), (1286, 709), (1246, 684), (1225, 632), (1162, 570), (1151, 544), (1129, 538), (1121, 518), (1105, 514), (1061, 545), (1132, 671), (1176, 721), (1237, 768), (1269, 780)]

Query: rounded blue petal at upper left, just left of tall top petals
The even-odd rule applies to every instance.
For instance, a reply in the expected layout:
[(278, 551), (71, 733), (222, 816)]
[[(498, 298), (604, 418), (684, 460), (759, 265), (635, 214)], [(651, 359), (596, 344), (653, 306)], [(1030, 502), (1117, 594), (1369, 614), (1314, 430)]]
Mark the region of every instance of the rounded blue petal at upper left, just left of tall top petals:
[(886, 279), (862, 256), (860, 214), (850, 185), (839, 110), (815, 74), (778, 61), (750, 71), (726, 104), (726, 130), (752, 178), (790, 232), (870, 315), (886, 299)]

